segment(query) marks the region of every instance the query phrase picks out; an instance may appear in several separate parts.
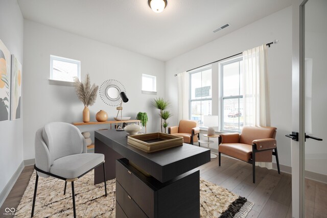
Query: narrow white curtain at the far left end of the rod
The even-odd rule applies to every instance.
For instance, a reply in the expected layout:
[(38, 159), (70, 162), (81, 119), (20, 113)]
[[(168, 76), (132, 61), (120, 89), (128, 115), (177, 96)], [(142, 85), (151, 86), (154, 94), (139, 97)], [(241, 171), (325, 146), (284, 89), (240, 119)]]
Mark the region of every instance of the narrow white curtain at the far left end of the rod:
[(189, 119), (189, 73), (184, 71), (177, 74), (178, 88), (178, 121)]

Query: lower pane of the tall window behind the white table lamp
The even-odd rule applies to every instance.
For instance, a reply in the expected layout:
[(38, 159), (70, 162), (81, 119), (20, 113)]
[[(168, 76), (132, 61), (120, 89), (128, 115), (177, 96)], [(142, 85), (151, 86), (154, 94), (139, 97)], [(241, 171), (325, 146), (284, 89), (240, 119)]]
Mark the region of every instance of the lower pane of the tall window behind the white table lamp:
[(203, 127), (203, 116), (212, 114), (212, 101), (191, 102), (191, 119), (198, 122), (199, 127)]

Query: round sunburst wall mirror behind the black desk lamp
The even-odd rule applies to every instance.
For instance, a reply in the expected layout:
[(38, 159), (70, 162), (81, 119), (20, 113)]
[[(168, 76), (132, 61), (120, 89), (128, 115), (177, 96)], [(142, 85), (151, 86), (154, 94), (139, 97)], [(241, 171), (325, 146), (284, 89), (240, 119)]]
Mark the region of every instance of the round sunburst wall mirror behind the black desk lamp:
[(99, 94), (104, 103), (110, 106), (119, 106), (122, 98), (120, 93), (126, 89), (118, 80), (106, 80), (101, 84)]

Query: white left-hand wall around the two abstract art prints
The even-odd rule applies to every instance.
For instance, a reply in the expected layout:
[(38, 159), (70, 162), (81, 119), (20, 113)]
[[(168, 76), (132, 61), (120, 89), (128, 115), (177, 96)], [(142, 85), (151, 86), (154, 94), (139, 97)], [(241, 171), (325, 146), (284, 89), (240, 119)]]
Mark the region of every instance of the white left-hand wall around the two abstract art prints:
[[(23, 25), (24, 19), (17, 1), (2, 0), (0, 2), (0, 39), (10, 53), (14, 54), (22, 64), (22, 78), (24, 80)], [(24, 81), (22, 86), (25, 86)], [(24, 93), (21, 96), (24, 99)], [(21, 111), (23, 108), (22, 104)], [(0, 193), (23, 160), (22, 127), (22, 118), (0, 122)]]

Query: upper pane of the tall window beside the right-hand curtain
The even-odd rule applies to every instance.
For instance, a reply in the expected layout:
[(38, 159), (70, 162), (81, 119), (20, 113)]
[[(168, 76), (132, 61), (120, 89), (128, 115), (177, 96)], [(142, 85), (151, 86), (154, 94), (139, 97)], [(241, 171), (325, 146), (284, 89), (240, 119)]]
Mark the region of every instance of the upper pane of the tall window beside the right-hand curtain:
[(223, 66), (223, 96), (240, 94), (239, 62)]

